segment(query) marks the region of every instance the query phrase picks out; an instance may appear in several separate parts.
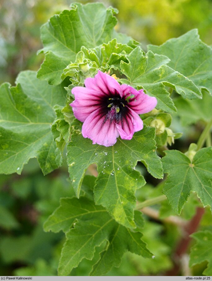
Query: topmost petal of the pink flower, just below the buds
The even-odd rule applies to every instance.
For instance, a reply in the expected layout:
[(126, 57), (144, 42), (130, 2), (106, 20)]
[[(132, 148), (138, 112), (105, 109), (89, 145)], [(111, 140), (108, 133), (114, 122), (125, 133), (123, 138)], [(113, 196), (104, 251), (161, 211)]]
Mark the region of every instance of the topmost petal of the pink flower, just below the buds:
[(111, 96), (112, 94), (122, 97), (121, 85), (116, 79), (100, 70), (98, 70), (94, 78), (86, 78), (84, 83), (86, 88), (104, 93), (106, 96)]

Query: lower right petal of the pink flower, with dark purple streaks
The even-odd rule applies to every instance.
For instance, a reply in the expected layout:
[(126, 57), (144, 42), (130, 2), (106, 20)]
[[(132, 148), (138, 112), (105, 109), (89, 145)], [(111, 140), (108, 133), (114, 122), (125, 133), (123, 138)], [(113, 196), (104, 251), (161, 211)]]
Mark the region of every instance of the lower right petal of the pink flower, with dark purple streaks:
[(116, 123), (116, 127), (122, 139), (131, 140), (135, 132), (143, 129), (143, 121), (135, 111), (128, 108), (120, 121)]

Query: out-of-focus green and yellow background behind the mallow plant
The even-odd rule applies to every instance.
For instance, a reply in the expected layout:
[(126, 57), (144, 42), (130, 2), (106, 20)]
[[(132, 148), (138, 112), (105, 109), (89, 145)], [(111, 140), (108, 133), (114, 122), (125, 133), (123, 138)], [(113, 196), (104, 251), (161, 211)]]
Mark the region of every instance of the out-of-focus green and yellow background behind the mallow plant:
[[(53, 3), (50, 0), (0, 0), (0, 83), (8, 81), (14, 85), (21, 70), (38, 70), (44, 58), (42, 54), (36, 55), (42, 47), (40, 26), (55, 13), (68, 9), (72, 2), (76, 1), (57, 0)], [(144, 49), (149, 43), (160, 45), (193, 28), (199, 29), (200, 37), (205, 43), (212, 44), (211, 0), (99, 2), (119, 10), (117, 31), (127, 33), (141, 42)], [(188, 149), (188, 143), (197, 140), (201, 124), (191, 127), (188, 132), (179, 122), (174, 122), (175, 131), (185, 133), (184, 140), (177, 141), (175, 148), (180, 147), (183, 151), (184, 145)], [(144, 173), (142, 167), (140, 170)], [(157, 185), (152, 178), (149, 178), (149, 182)], [(65, 164), (44, 177), (37, 161), (31, 159), (21, 176), (0, 175), (1, 275), (57, 274), (64, 236), (62, 233), (44, 233), (42, 224), (59, 205), (60, 197), (72, 195), (73, 188), (68, 180)], [(202, 229), (207, 221), (211, 221), (209, 217), (211, 218), (210, 212), (206, 211), (201, 223)], [(144, 228), (144, 241), (152, 251), (157, 245), (156, 258), (145, 260), (126, 253), (120, 268), (114, 268), (108, 275), (166, 274), (173, 266), (171, 253), (178, 241), (178, 231), (175, 226), (148, 221)], [(98, 251), (101, 249), (97, 250), (95, 259)], [(71, 274), (87, 275), (91, 265), (91, 261), (82, 261)], [(195, 266), (192, 274), (201, 275), (205, 266), (206, 263)]]

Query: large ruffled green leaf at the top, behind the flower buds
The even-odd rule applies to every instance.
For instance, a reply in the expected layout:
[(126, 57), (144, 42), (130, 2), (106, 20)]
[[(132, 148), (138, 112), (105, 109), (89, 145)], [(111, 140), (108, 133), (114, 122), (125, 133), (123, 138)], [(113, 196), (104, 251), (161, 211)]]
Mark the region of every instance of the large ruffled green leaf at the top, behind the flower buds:
[(114, 13), (114, 9), (106, 9), (101, 3), (76, 3), (72, 10), (51, 17), (41, 28), (44, 47), (40, 52), (46, 56), (37, 77), (52, 85), (60, 84), (64, 68), (75, 61), (82, 46), (96, 47), (113, 38), (117, 23)]

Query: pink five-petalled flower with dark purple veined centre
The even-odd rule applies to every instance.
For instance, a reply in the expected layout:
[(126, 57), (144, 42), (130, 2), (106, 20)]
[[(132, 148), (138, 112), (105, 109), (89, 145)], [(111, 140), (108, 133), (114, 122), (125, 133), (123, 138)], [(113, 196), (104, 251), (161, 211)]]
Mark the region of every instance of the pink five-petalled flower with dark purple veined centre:
[(129, 85), (120, 85), (101, 71), (94, 78), (86, 78), (85, 86), (72, 89), (75, 100), (70, 105), (74, 116), (84, 122), (82, 136), (93, 144), (114, 145), (119, 135), (131, 140), (134, 132), (143, 129), (138, 114), (151, 111), (157, 104), (155, 97)]

